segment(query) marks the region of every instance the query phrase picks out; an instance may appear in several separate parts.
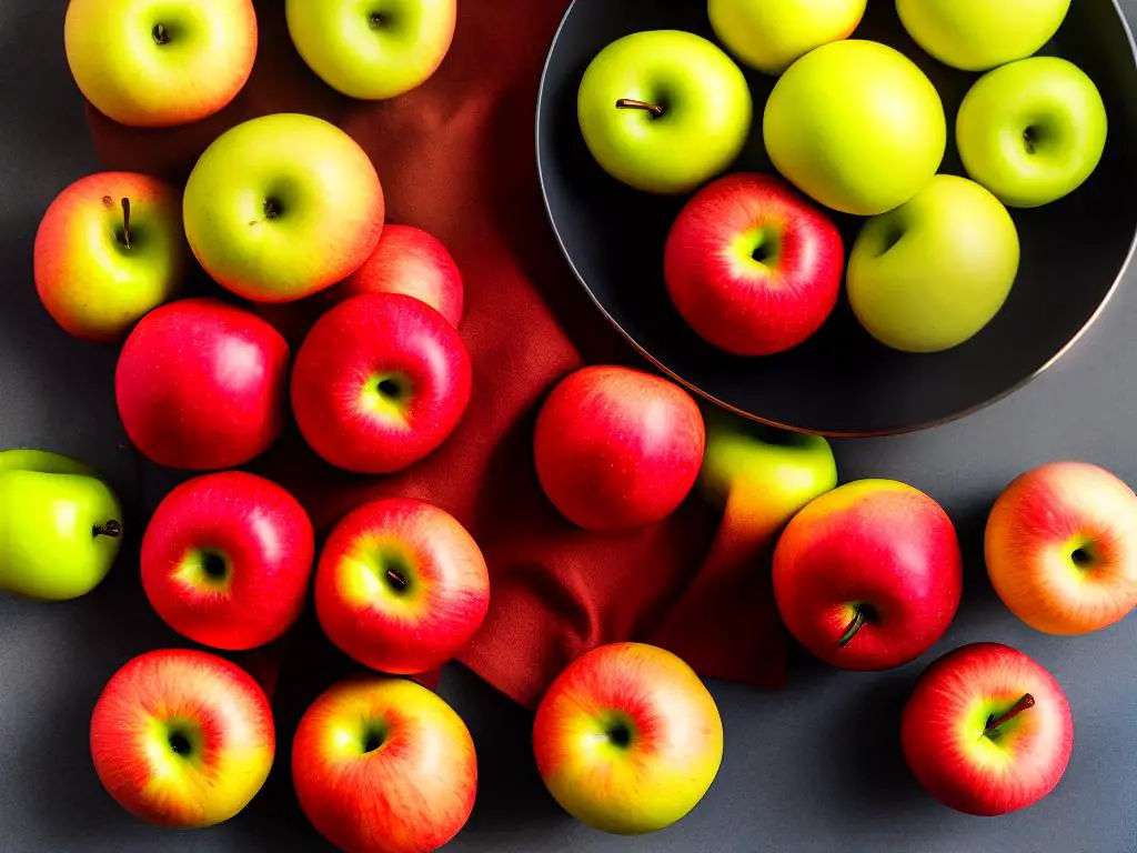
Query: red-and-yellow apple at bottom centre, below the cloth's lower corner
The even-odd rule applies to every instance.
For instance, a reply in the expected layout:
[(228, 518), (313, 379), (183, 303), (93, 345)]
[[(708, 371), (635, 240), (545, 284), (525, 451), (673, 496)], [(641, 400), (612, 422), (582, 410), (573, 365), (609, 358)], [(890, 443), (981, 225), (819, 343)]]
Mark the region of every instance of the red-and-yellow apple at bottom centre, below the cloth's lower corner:
[(722, 762), (722, 719), (681, 659), (614, 643), (580, 655), (549, 686), (533, 753), (566, 812), (606, 833), (653, 833), (709, 789)]

